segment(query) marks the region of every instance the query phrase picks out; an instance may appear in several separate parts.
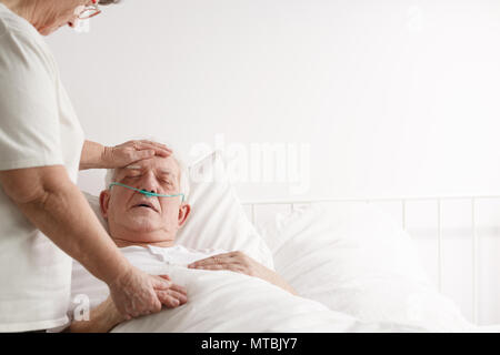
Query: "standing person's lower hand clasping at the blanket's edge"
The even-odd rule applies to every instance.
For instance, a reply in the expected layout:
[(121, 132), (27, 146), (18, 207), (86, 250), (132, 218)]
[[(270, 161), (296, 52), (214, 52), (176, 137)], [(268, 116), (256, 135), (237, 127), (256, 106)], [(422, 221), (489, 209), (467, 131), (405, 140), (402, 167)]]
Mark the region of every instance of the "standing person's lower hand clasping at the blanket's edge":
[(109, 285), (113, 303), (124, 320), (158, 313), (184, 304), (186, 290), (167, 275), (153, 276), (133, 267)]

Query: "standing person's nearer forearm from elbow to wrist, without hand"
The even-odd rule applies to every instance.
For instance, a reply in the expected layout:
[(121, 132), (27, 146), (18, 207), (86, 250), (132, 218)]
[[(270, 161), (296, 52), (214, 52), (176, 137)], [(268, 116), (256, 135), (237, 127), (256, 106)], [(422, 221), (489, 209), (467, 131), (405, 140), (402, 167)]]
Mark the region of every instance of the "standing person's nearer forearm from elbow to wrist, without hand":
[(17, 204), (56, 245), (103, 282), (111, 283), (131, 267), (69, 178), (60, 176), (40, 197)]

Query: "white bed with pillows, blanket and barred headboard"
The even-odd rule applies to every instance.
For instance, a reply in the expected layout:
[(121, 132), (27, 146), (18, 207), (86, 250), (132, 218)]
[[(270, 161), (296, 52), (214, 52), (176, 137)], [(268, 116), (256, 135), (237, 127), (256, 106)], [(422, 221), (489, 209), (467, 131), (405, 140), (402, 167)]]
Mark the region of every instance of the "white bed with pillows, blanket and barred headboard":
[[(242, 251), (276, 270), (298, 296), (230, 271), (167, 265), (161, 273), (187, 287), (189, 302), (122, 323), (113, 332), (500, 331), (478, 325), (482, 310), (477, 207), (496, 196), (241, 202), (219, 152), (193, 163), (190, 179), (192, 214), (176, 242)], [(98, 199), (87, 197), (99, 216)], [(472, 223), (473, 312), (467, 316), (442, 292), (443, 206), (454, 200), (469, 204)], [(437, 280), (429, 276), (408, 233), (409, 210), (420, 202), (436, 207)], [(381, 209), (384, 204), (392, 213)]]

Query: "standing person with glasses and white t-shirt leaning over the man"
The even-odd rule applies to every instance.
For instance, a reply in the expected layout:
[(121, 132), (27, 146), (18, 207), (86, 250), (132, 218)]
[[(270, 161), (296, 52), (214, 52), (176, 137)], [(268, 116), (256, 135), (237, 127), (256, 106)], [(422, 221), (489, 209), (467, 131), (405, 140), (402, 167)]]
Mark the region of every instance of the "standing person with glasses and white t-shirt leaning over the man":
[(171, 151), (150, 141), (86, 141), (42, 36), (100, 13), (102, 0), (0, 0), (0, 332), (68, 322), (71, 258), (109, 287), (126, 318), (171, 305), (167, 276), (132, 266), (76, 185), (79, 169)]

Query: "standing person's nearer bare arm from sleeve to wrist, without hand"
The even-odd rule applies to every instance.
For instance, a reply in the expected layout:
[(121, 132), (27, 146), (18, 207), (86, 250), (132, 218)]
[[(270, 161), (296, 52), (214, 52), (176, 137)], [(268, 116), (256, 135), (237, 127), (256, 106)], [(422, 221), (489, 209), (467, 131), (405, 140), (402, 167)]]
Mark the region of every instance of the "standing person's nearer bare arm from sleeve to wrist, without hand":
[(130, 268), (62, 165), (2, 171), (0, 183), (34, 226), (96, 277), (109, 284)]

